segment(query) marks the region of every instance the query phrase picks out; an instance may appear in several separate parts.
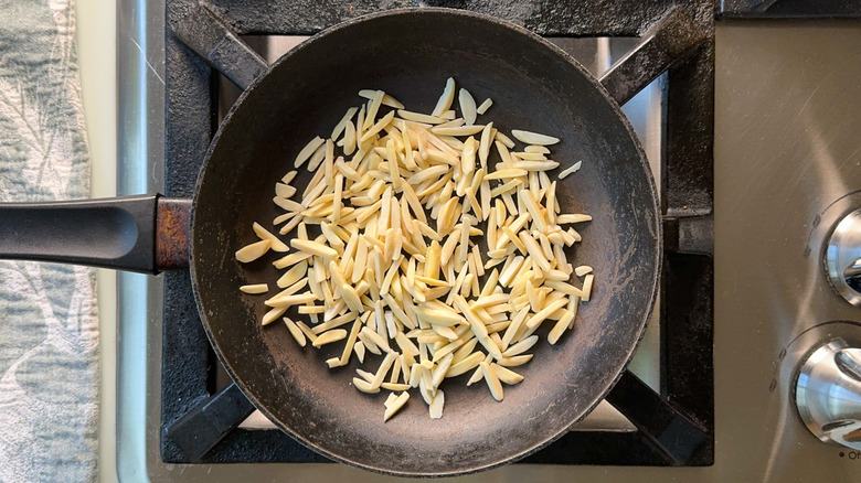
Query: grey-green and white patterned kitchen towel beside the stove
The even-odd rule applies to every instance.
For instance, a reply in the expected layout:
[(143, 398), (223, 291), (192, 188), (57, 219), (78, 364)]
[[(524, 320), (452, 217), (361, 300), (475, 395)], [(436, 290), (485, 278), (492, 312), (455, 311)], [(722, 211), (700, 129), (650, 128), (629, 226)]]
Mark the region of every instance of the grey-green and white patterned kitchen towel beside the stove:
[[(87, 197), (73, 0), (0, 0), (0, 202)], [(0, 261), (0, 482), (97, 477), (92, 269)]]

